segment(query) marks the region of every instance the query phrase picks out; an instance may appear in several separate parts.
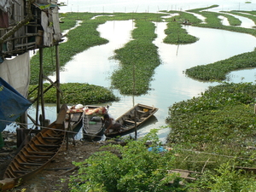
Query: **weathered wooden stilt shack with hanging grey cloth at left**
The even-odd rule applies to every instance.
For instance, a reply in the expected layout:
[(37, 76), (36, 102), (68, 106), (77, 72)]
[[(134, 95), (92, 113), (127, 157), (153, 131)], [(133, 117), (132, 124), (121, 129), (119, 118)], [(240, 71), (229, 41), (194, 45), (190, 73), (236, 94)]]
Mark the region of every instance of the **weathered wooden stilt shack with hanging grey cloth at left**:
[[(0, 78), (27, 98), (30, 79), (30, 51), (39, 51), (38, 98), (31, 103), (37, 104), (35, 125), (43, 125), (44, 90), (43, 90), (43, 49), (55, 47), (56, 80), (50, 82), (56, 88), (57, 113), (60, 109), (60, 80), (59, 80), (59, 49), (63, 40), (57, 0), (1, 0), (0, 1)], [(19, 102), (19, 100), (17, 101)], [(0, 108), (6, 108), (0, 103)], [(38, 106), (41, 106), (39, 120)], [(25, 110), (26, 111), (26, 110)], [(4, 113), (4, 112), (3, 112)], [(13, 112), (15, 113), (15, 112)], [(21, 121), (26, 123), (26, 113)], [(5, 120), (9, 124), (9, 119)], [(40, 121), (40, 122), (39, 122)], [(25, 124), (24, 124), (25, 125)], [(0, 125), (0, 132), (5, 127)]]

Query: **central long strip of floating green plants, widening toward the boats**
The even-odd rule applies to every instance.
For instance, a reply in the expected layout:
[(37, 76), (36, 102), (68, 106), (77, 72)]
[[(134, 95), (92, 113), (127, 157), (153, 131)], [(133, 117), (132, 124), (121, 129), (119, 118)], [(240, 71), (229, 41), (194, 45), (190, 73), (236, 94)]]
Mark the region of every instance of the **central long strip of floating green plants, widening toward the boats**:
[(136, 20), (136, 26), (132, 32), (134, 40), (115, 50), (113, 57), (120, 62), (119, 69), (111, 77), (113, 88), (126, 95), (146, 94), (154, 68), (160, 65), (158, 48), (152, 43), (156, 38), (154, 24)]

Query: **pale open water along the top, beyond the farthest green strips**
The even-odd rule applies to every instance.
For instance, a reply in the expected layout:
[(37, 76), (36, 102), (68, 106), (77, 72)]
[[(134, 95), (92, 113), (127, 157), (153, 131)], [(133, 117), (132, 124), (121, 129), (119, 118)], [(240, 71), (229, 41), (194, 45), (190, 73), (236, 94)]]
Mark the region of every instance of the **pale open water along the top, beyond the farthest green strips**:
[(256, 9), (256, 3), (245, 3), (241, 0), (62, 0), (67, 6), (61, 7), (61, 12), (96, 12), (96, 13), (113, 13), (113, 12), (150, 12), (156, 13), (160, 10), (188, 10), (206, 8), (213, 4), (218, 4), (218, 8), (212, 11), (221, 10), (253, 10)]

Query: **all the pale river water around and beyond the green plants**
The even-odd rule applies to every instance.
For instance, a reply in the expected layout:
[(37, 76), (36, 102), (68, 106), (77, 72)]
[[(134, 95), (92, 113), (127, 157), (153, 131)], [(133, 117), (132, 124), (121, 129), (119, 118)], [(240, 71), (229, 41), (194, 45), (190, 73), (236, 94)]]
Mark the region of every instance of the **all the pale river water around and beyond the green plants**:
[[(65, 2), (65, 1), (63, 1)], [(84, 1), (83, 1), (84, 2)], [(221, 5), (218, 9), (247, 9), (252, 10), (254, 3), (244, 3), (243, 1), (144, 1), (137, 3), (127, 3), (127, 1), (113, 0), (111, 3), (102, 3), (107, 1), (86, 1), (80, 0), (66, 1), (67, 7), (61, 7), (62, 12), (67, 11), (90, 11), (90, 12), (143, 12), (148, 9), (149, 12), (157, 12), (159, 9), (195, 9), (207, 7), (212, 4)], [(189, 3), (188, 3), (189, 2)], [(212, 2), (212, 3), (211, 3)], [(219, 3), (218, 3), (219, 2)], [(75, 7), (78, 6), (77, 10)], [(102, 10), (103, 9), (103, 10)], [(122, 10), (123, 9), (123, 10)], [(216, 11), (218, 11), (216, 9)], [(189, 34), (200, 38), (195, 44), (172, 45), (164, 44), (163, 38), (166, 37), (164, 30), (166, 23), (154, 23), (157, 38), (154, 44), (159, 47), (159, 54), (162, 64), (155, 69), (154, 80), (151, 82), (152, 90), (144, 96), (122, 96), (118, 90), (113, 90), (120, 97), (119, 102), (109, 102), (109, 113), (114, 117), (119, 117), (136, 103), (143, 103), (149, 106), (159, 108), (154, 118), (148, 120), (141, 129), (137, 131), (138, 137), (143, 137), (153, 128), (166, 126), (165, 119), (168, 116), (168, 108), (175, 102), (188, 100), (193, 96), (200, 96), (201, 92), (208, 86), (214, 86), (218, 83), (201, 82), (195, 79), (189, 79), (183, 73), (187, 68), (197, 65), (205, 65), (215, 61), (230, 58), (244, 52), (253, 51), (256, 44), (256, 38), (251, 35), (227, 32), (224, 30), (215, 30), (200, 28), (194, 26), (184, 26)], [(242, 20), (242, 25), (250, 27), (251, 20)], [(117, 69), (118, 61), (110, 58), (113, 56), (113, 50), (123, 47), (131, 40), (131, 31), (134, 29), (132, 20), (107, 21), (98, 27), (102, 38), (109, 40), (108, 44), (95, 46), (85, 50), (73, 57), (61, 72), (61, 83), (78, 82), (101, 85), (109, 88), (111, 82), (109, 77), (113, 70)], [(55, 77), (49, 77), (55, 80)], [(241, 70), (229, 74), (232, 82), (253, 82), (255, 80), (255, 70)], [(81, 103), (86, 104), (86, 103)], [(28, 113), (33, 114), (35, 108), (32, 107)], [(46, 105), (46, 119), (55, 120), (55, 104)], [(159, 132), (159, 137), (165, 141), (170, 128), (164, 128)], [(81, 137), (81, 136), (78, 136)]]

